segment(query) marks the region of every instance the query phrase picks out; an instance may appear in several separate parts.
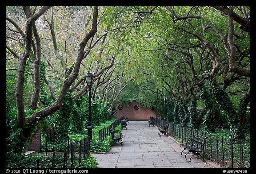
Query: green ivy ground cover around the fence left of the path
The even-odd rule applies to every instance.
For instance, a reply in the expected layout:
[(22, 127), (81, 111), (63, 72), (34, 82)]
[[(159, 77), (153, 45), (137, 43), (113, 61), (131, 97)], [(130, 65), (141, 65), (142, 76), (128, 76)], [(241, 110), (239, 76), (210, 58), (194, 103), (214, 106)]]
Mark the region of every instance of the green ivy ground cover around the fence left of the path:
[[(95, 132), (92, 136), (92, 141), (90, 142), (90, 153), (96, 153), (96, 152), (107, 152), (109, 149), (111, 149), (111, 146), (114, 145), (116, 142), (112, 141), (111, 134), (104, 139), (104, 141), (101, 141), (99, 143), (99, 137), (98, 137), (98, 132), (102, 128), (106, 128), (109, 125), (111, 125), (116, 119), (112, 120), (107, 120), (104, 123), (101, 123), (99, 126), (95, 126), (93, 129), (93, 132)], [(117, 125), (115, 127), (115, 130), (121, 130), (121, 125)], [(81, 139), (86, 138), (87, 139), (87, 134), (74, 134), (74, 135), (68, 135), (70, 142), (74, 144), (78, 144), (78, 142)], [(30, 162), (35, 161), (36, 159), (40, 159), (40, 168), (52, 168), (51, 166), (51, 160), (52, 156), (51, 155), (46, 155), (45, 153), (45, 146), (46, 142), (45, 139), (41, 139), (41, 152), (37, 152), (36, 154), (33, 155), (20, 155), (19, 156), (19, 162), (16, 162), (16, 159), (12, 159), (7, 161), (8, 163), (6, 164), (7, 168), (16, 168), (25, 164), (28, 164)], [(64, 151), (64, 147), (67, 146), (67, 139), (63, 139), (62, 141), (60, 139), (56, 139), (49, 143), (48, 145), (48, 154), (54, 151), (58, 151), (59, 155), (61, 152)], [(74, 147), (75, 151), (79, 151), (78, 147)], [(62, 153), (61, 153), (62, 154)], [(63, 154), (61, 157), (57, 158), (60, 160), (60, 162), (56, 162), (55, 167), (56, 168), (62, 168), (63, 167)], [(95, 159), (92, 155), (87, 155), (85, 158), (81, 159), (82, 161), (79, 162), (79, 158), (74, 157), (73, 163), (75, 168), (96, 168), (98, 163), (97, 159)], [(70, 166), (70, 163), (67, 164), (67, 166)]]

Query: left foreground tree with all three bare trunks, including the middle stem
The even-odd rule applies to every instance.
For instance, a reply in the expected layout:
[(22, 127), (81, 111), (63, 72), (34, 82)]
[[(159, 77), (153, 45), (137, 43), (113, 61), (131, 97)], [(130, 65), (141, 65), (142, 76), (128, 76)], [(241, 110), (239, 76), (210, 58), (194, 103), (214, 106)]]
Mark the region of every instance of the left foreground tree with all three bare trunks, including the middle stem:
[[(29, 6), (24, 6), (23, 10), (25, 15), (27, 16), (27, 22), (25, 27), (25, 49), (22, 52), (20, 56), (20, 66), (17, 73), (17, 83), (16, 83), (16, 104), (17, 104), (17, 127), (21, 128), (23, 130), (22, 135), (24, 136), (24, 139), (28, 139), (28, 137), (32, 133), (32, 128), (36, 126), (35, 122), (38, 122), (39, 120), (42, 120), (46, 116), (52, 114), (56, 110), (58, 110), (61, 107), (61, 104), (65, 98), (66, 93), (68, 92), (69, 87), (72, 85), (76, 77), (78, 76), (78, 72), (80, 70), (80, 64), (81, 61), (85, 58), (86, 52), (84, 52), (84, 48), (87, 45), (89, 39), (91, 39), (97, 32), (97, 17), (98, 17), (98, 6), (95, 6), (93, 9), (93, 15), (92, 15), (92, 27), (91, 29), (84, 35), (83, 40), (79, 44), (79, 49), (77, 53), (77, 57), (75, 61), (73, 62), (73, 67), (71, 73), (68, 75), (67, 78), (63, 81), (63, 84), (61, 86), (59, 97), (54, 101), (51, 105), (49, 105), (46, 108), (41, 109), (40, 111), (37, 111), (33, 113), (31, 116), (29, 116), (28, 120), (25, 121), (25, 112), (24, 112), (24, 101), (23, 101), (23, 88), (24, 88), (24, 72), (25, 72), (25, 65), (27, 62), (27, 59), (30, 56), (31, 53), (31, 47), (32, 47), (32, 33), (35, 36), (36, 39), (36, 50), (35, 47), (33, 47), (34, 52), (36, 52), (36, 59), (34, 61), (34, 83), (35, 83), (35, 90), (34, 95), (32, 97), (32, 109), (36, 108), (36, 105), (34, 103), (37, 103), (38, 96), (39, 96), (39, 68), (40, 68), (40, 38), (39, 35), (36, 32), (36, 26), (35, 21), (39, 19), (41, 15), (46, 12), (50, 6), (44, 6), (42, 7), (37, 13), (32, 14), (31, 8)], [(24, 142), (22, 142), (24, 143)], [(21, 144), (23, 146), (24, 144)], [(22, 148), (20, 149), (22, 150)]]

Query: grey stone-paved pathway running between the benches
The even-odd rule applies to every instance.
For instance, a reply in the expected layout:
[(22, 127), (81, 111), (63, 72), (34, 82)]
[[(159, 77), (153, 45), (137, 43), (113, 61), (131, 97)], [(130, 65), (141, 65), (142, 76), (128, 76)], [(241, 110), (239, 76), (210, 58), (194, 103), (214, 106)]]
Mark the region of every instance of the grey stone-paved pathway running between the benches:
[(148, 121), (129, 121), (128, 129), (122, 130), (123, 146), (116, 143), (106, 153), (95, 153), (98, 168), (221, 168), (186, 153), (171, 137), (157, 135), (157, 127), (148, 126)]

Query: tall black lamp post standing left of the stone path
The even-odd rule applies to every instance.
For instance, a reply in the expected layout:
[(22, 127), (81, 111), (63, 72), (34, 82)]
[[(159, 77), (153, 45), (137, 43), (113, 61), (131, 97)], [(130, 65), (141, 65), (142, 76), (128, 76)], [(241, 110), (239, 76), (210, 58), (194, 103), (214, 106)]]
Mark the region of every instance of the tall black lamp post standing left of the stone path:
[(91, 116), (91, 89), (94, 80), (92, 73), (87, 73), (85, 81), (88, 85), (89, 92), (89, 114), (88, 114), (88, 127), (87, 127), (87, 140), (88, 140), (88, 154), (90, 154), (90, 140), (92, 140), (92, 116)]

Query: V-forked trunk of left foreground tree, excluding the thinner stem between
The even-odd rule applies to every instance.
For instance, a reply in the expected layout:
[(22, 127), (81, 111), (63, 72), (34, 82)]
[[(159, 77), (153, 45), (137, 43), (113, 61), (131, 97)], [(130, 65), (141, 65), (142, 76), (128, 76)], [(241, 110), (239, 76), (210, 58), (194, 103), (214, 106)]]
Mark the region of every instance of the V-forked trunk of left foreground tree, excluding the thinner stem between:
[(82, 40), (82, 42), (79, 44), (78, 54), (74, 62), (74, 67), (70, 75), (64, 80), (60, 89), (58, 99), (48, 107), (33, 113), (28, 118), (26, 122), (26, 126), (25, 126), (25, 113), (24, 113), (24, 101), (23, 101), (23, 85), (24, 85), (24, 72), (25, 72), (26, 60), (30, 55), (31, 45), (32, 45), (32, 24), (36, 21), (36, 19), (38, 19), (42, 14), (44, 14), (44, 12), (48, 8), (50, 8), (50, 6), (42, 7), (38, 13), (36, 13), (35, 15), (32, 15), (31, 17), (29, 16), (31, 14), (30, 8), (27, 6), (24, 6), (23, 8), (24, 8), (25, 14), (28, 16), (28, 20), (26, 24), (26, 46), (25, 46), (24, 52), (21, 54), (21, 57), (20, 57), (20, 66), (19, 66), (19, 71), (17, 76), (16, 104), (17, 104), (17, 113), (18, 113), (18, 116), (17, 116), (18, 128), (23, 129), (23, 135), (21, 136), (24, 136), (24, 139), (26, 140), (31, 135), (33, 127), (35, 126), (37, 121), (43, 120), (46, 116), (49, 116), (50, 114), (60, 109), (62, 102), (64, 100), (64, 97), (68, 92), (69, 87), (72, 85), (72, 83), (78, 76), (78, 73), (80, 70), (80, 64), (85, 54), (84, 48), (87, 45), (89, 39), (91, 39), (97, 32), (98, 6), (95, 6), (93, 9), (92, 27), (90, 31), (84, 36), (84, 39)]

